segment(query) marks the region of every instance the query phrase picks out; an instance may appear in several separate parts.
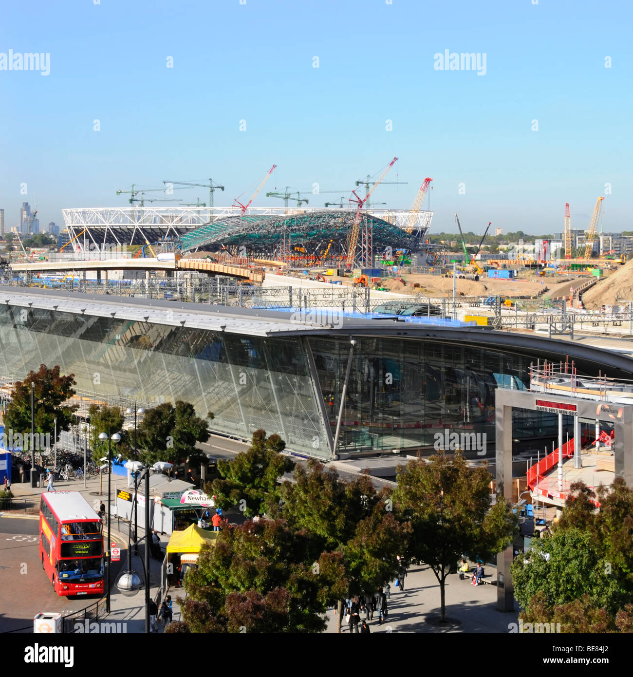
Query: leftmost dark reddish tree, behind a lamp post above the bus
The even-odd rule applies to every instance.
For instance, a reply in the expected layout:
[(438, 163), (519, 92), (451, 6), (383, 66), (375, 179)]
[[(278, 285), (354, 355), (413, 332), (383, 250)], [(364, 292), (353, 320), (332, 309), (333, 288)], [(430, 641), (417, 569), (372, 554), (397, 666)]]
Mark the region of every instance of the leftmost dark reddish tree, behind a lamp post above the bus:
[[(34, 420), (36, 433), (49, 433), (54, 436), (55, 418), (57, 418), (58, 437), (63, 431), (70, 430), (73, 412), (77, 405), (66, 405), (66, 402), (76, 385), (74, 374), (60, 375), (60, 367), (52, 369), (41, 364), (37, 372), (31, 371), (23, 381), (16, 381), (12, 399), (4, 416), (5, 429), (12, 429), (15, 433), (26, 435), (30, 433), (30, 399), (31, 384), (35, 384)], [(25, 445), (26, 448), (26, 445)]]

